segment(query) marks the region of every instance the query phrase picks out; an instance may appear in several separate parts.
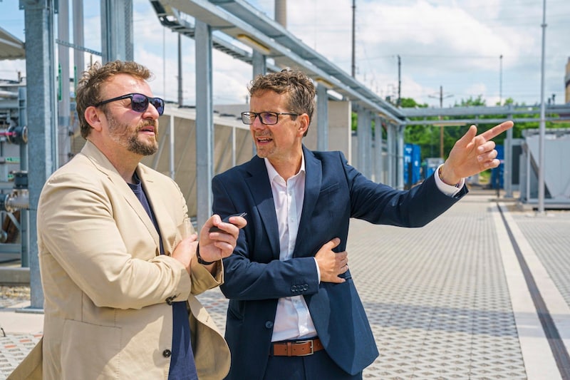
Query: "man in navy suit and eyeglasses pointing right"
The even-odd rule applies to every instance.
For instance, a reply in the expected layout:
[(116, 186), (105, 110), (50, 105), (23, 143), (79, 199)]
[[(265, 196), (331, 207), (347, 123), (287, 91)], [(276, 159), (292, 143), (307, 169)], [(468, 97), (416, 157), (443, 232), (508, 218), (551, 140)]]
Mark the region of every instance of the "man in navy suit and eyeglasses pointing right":
[(378, 349), (348, 270), (350, 218), (426, 225), (467, 194), (464, 178), (499, 165), (490, 139), (513, 123), (480, 135), (472, 125), (435, 175), (400, 191), (366, 179), (340, 152), (304, 147), (315, 97), (304, 73), (258, 76), (249, 93), (242, 120), (257, 156), (212, 180), (214, 213), (247, 212), (224, 259), (227, 379), (361, 379)]

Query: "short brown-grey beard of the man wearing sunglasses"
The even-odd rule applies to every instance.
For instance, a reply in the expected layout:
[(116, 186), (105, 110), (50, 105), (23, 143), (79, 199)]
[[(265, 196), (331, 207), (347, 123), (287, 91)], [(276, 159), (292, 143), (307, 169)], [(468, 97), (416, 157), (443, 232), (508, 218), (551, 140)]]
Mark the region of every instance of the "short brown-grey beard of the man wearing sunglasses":
[[(158, 120), (142, 120), (133, 128), (128, 124), (118, 122), (117, 119), (107, 114), (109, 120), (109, 135), (120, 146), (138, 155), (153, 155), (158, 150)], [(155, 136), (152, 141), (139, 139), (138, 132), (149, 125), (155, 128)]]

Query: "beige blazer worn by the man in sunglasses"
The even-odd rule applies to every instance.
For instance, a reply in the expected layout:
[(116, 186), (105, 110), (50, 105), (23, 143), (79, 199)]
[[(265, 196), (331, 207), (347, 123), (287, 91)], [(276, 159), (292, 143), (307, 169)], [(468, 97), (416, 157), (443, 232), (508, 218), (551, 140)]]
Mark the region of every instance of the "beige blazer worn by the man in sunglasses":
[(43, 339), (9, 379), (41, 379), (42, 369), (53, 380), (167, 379), (170, 299), (189, 304), (199, 379), (227, 374), (227, 344), (195, 298), (223, 282), (222, 264), (215, 278), (202, 265), (188, 276), (170, 257), (193, 232), (185, 199), (167, 176), (142, 164), (137, 173), (167, 255), (133, 191), (92, 143), (48, 178), (37, 212)]

